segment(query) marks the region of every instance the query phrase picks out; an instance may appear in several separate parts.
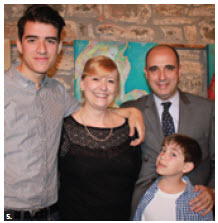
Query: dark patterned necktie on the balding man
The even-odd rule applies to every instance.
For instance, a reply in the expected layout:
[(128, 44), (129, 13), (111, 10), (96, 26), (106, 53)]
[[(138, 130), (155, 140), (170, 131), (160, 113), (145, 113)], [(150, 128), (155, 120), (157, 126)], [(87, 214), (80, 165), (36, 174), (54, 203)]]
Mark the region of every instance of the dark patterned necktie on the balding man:
[(173, 133), (175, 133), (173, 118), (169, 113), (169, 108), (171, 104), (171, 102), (161, 103), (161, 105), (164, 107), (162, 113), (162, 128), (164, 136), (172, 135)]

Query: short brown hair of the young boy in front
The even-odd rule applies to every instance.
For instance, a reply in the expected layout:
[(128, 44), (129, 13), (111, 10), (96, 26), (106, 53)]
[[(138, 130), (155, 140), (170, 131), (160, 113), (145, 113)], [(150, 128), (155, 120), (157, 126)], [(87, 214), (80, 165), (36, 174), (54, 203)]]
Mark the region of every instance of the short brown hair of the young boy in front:
[(201, 162), (201, 148), (194, 138), (182, 134), (173, 134), (165, 137), (163, 145), (167, 142), (175, 142), (182, 149), (185, 162), (193, 162), (195, 167)]

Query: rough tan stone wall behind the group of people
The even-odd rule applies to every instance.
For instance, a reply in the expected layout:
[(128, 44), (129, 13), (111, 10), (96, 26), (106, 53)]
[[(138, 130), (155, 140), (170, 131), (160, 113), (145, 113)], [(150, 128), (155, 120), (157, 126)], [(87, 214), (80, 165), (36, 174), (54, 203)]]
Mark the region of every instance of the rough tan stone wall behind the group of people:
[[(16, 23), (28, 4), (4, 5), (5, 39), (14, 43)], [(65, 18), (64, 47), (49, 71), (73, 93), (73, 40), (141, 41), (180, 44), (183, 68), (181, 89), (206, 94), (207, 63), (204, 46), (215, 43), (214, 4), (58, 4)], [(203, 47), (202, 47), (203, 46)], [(19, 61), (12, 46), (12, 62)]]

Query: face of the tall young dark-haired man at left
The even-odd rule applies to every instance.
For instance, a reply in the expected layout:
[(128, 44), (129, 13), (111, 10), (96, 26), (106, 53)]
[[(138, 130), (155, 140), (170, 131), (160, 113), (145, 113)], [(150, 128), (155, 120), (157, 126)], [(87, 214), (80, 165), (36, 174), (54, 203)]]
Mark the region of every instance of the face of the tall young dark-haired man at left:
[(58, 31), (51, 25), (27, 21), (22, 43), (17, 41), (18, 51), (23, 55), (21, 73), (44, 75), (54, 65), (61, 50)]

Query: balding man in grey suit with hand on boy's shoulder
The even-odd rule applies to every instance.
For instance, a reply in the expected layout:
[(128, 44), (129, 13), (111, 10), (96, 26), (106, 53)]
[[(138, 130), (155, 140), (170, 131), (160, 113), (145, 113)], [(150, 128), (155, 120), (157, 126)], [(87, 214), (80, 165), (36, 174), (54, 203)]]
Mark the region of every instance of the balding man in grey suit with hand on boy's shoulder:
[(136, 107), (144, 116), (145, 141), (142, 144), (142, 169), (133, 195), (132, 214), (151, 183), (156, 179), (156, 157), (164, 138), (162, 129), (163, 102), (171, 102), (169, 108), (175, 132), (195, 138), (201, 146), (201, 164), (188, 177), (200, 194), (190, 202), (196, 212), (206, 215), (214, 205), (215, 188), (215, 117), (214, 103), (178, 89), (181, 66), (177, 51), (168, 45), (153, 47), (146, 56), (144, 69), (153, 93), (121, 107)]

